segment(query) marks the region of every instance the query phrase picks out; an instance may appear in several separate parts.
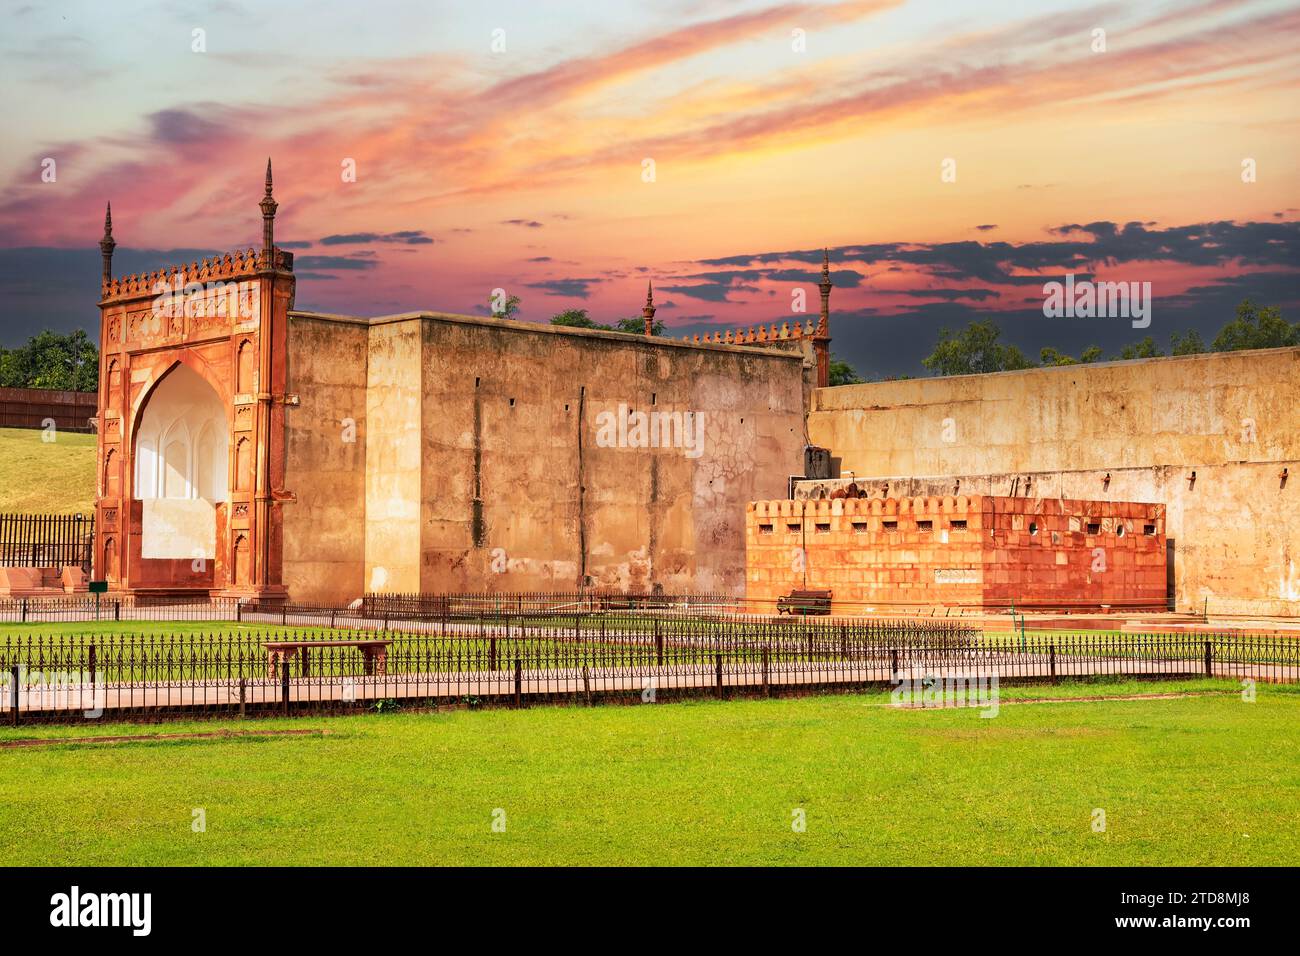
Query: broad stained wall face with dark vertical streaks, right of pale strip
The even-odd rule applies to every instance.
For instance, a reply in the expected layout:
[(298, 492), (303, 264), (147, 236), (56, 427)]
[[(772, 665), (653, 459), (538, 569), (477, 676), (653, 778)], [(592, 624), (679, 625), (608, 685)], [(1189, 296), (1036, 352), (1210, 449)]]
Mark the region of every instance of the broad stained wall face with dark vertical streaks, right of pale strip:
[[(800, 355), (417, 321), (422, 589), (740, 593), (744, 505), (801, 467)], [(620, 405), (702, 415), (698, 455), (602, 441)]]

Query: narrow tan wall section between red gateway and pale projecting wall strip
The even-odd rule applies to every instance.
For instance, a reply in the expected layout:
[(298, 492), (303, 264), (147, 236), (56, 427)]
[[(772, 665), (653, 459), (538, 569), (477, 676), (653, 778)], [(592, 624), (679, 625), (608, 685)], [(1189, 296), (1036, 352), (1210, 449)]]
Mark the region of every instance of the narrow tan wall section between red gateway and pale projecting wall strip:
[[(295, 313), (289, 323), (285, 585), (294, 601), (338, 601), (365, 574), (364, 323)], [(352, 428), (348, 428), (348, 420)], [(351, 441), (348, 441), (351, 438)]]

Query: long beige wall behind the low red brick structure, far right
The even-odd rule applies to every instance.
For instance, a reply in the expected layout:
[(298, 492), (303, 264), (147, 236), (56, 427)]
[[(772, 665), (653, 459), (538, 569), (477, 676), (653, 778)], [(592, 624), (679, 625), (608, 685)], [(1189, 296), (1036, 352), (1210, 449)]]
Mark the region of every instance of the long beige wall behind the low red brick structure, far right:
[(1297, 395), (1279, 349), (819, 389), (809, 432), (872, 493), (1164, 503), (1179, 610), (1300, 615)]

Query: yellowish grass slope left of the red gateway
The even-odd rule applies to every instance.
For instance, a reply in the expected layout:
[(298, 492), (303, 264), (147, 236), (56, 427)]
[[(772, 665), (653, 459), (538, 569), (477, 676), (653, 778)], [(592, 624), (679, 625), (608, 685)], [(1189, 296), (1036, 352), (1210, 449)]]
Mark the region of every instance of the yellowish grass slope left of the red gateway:
[(0, 428), (0, 512), (90, 514), (95, 506), (95, 436)]

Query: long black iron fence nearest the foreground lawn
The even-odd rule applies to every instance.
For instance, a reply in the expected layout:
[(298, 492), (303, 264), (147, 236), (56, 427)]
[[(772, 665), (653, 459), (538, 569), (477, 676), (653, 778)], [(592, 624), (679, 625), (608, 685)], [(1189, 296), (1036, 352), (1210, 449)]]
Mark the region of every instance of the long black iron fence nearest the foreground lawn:
[[(697, 626), (690, 626), (692, 623)], [(1300, 682), (1300, 641), (1228, 635), (989, 637), (916, 622), (658, 620), (649, 631), (500, 622), (447, 633), (9, 636), (9, 719), (528, 702), (656, 702), (911, 682)], [(1245, 691), (1243, 691), (1245, 692)]]

